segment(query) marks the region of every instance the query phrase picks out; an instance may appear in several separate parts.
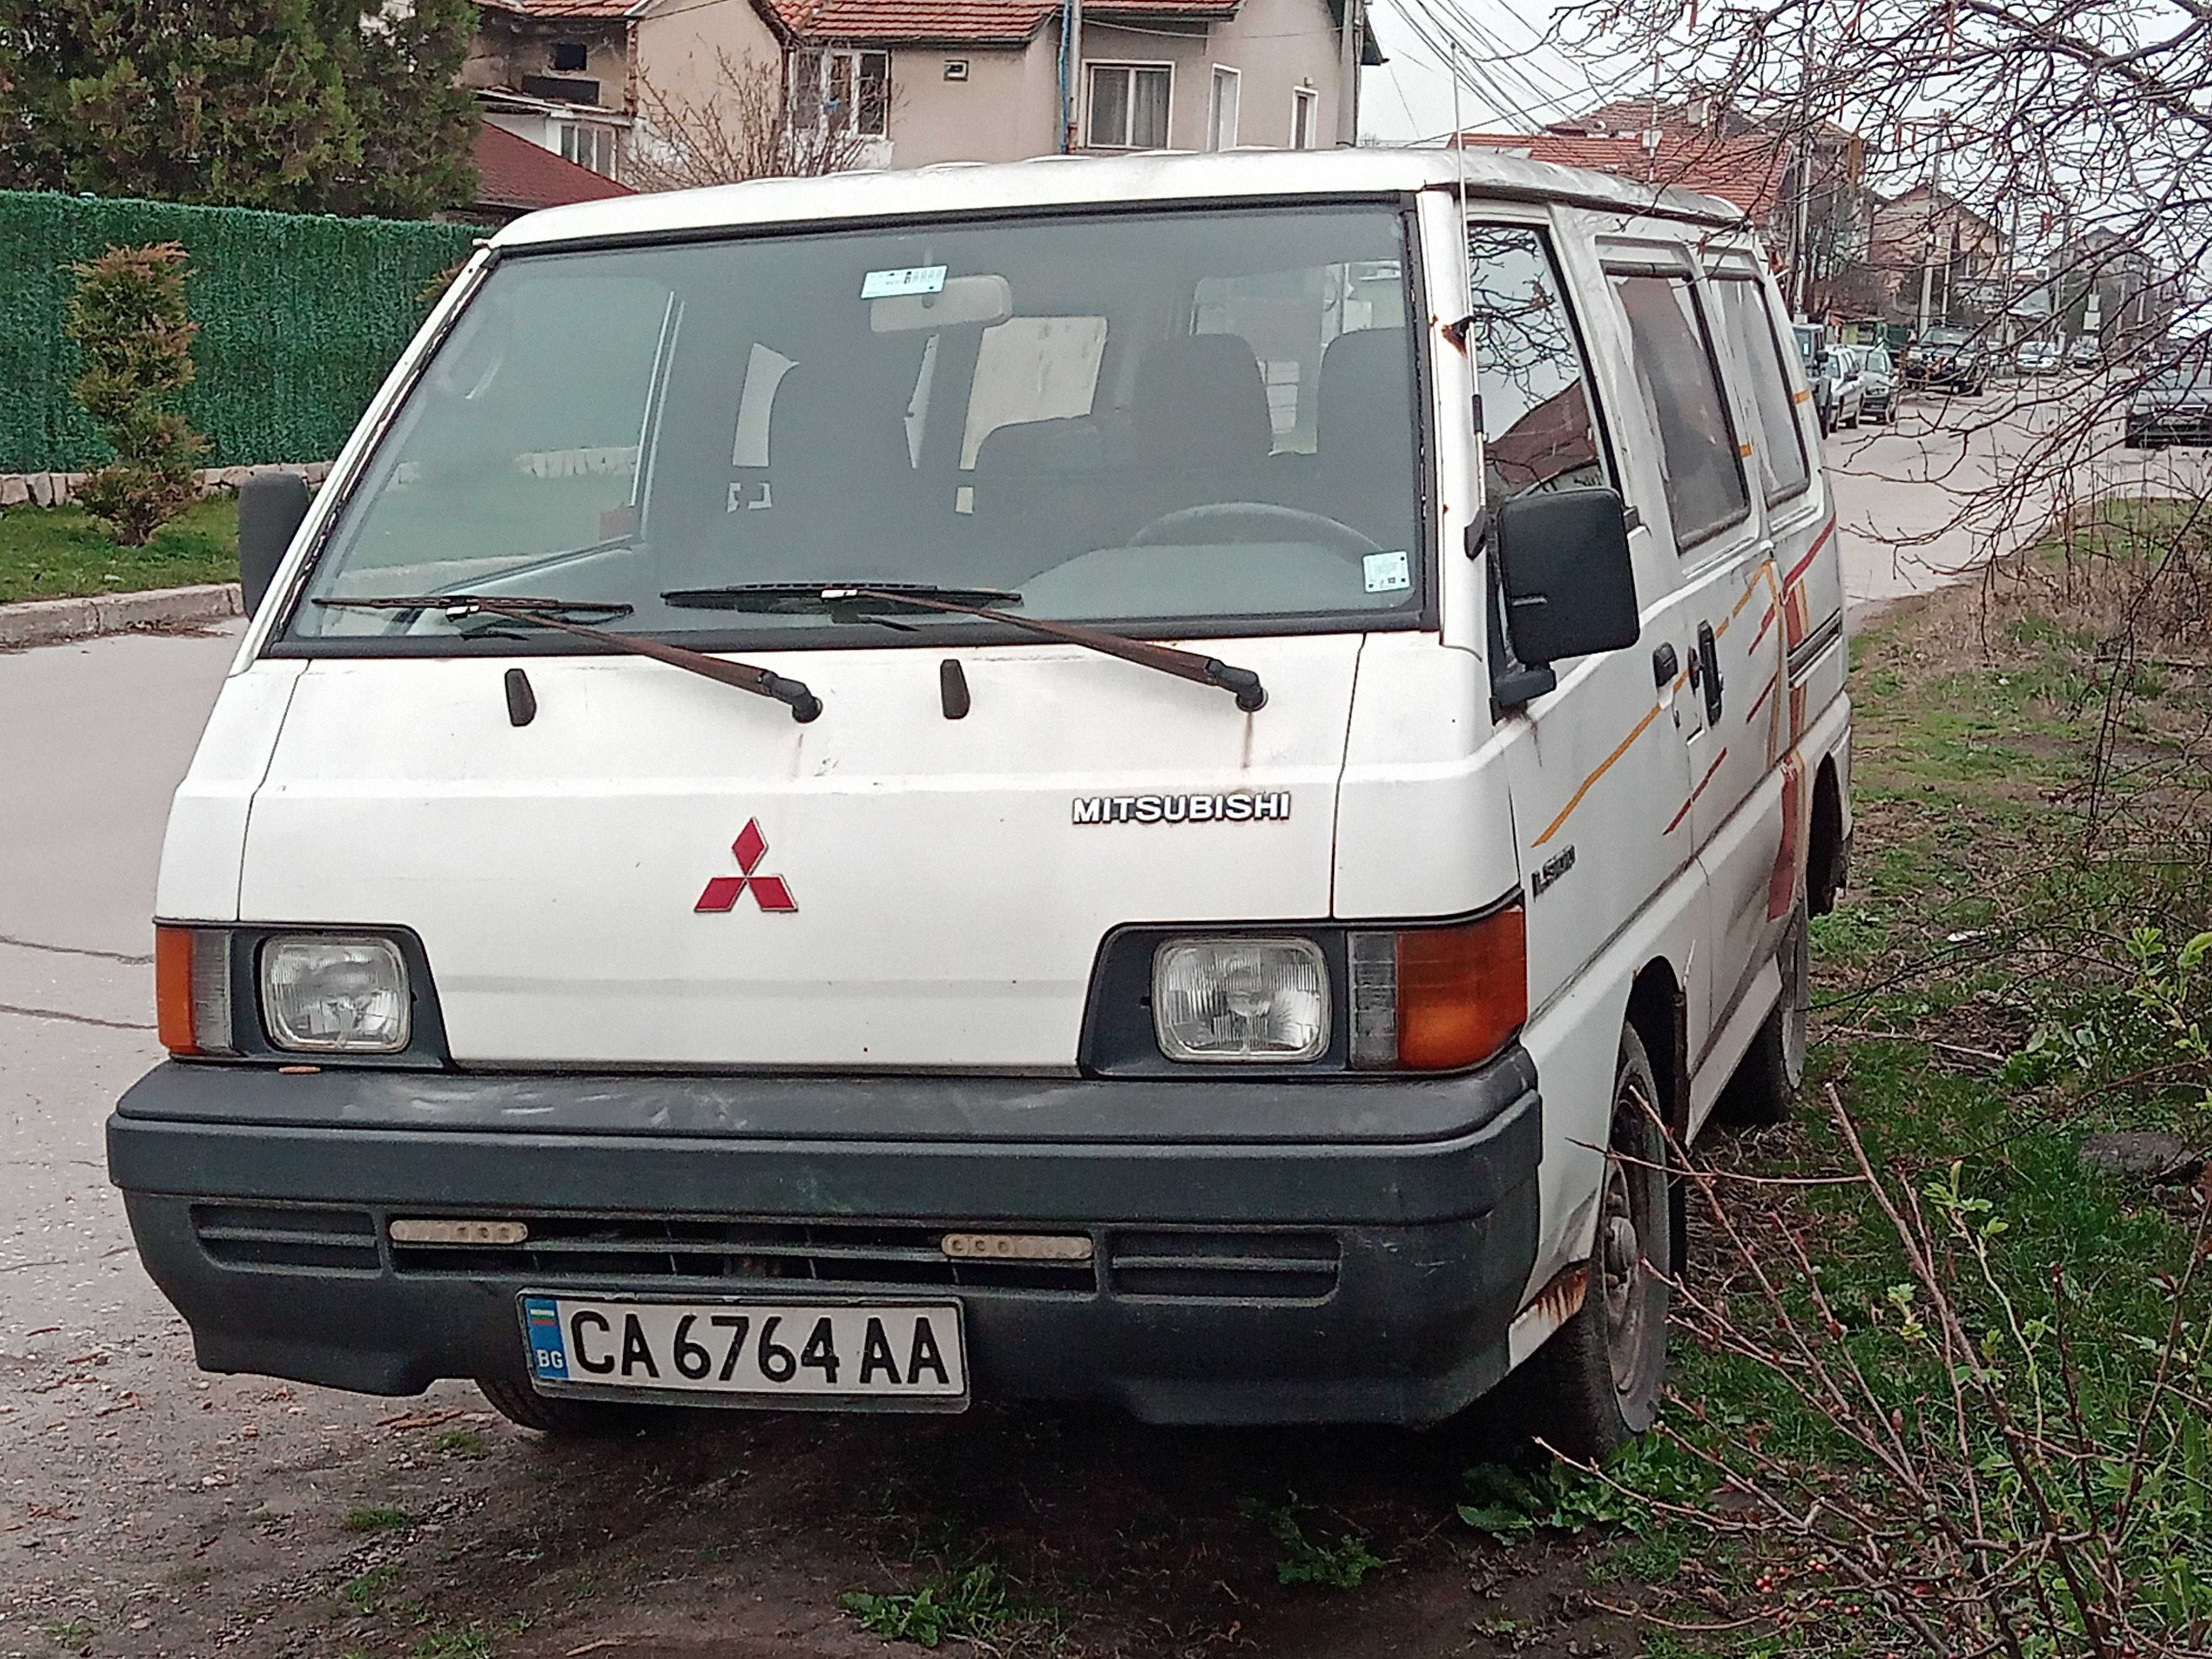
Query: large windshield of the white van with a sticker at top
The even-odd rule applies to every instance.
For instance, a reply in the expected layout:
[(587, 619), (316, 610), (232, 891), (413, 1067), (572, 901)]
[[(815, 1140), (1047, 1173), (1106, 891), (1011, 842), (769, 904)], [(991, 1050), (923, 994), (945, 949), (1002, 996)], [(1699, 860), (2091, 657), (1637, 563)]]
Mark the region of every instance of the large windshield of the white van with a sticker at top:
[(661, 597), (772, 582), (1000, 588), (1170, 635), (1363, 628), (1418, 611), (1416, 438), (1389, 206), (515, 254), (349, 491), (290, 635), (449, 648), (445, 611), (314, 602), (489, 593), (849, 641), (821, 608)]

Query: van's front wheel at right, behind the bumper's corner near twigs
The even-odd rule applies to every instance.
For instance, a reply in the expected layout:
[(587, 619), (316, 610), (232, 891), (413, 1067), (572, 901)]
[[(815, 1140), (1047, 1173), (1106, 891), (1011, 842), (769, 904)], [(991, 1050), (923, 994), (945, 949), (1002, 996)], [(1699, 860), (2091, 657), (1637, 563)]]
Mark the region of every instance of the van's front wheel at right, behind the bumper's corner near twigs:
[(1644, 1433), (1666, 1387), (1674, 1232), (1666, 1135), (1652, 1117), (1659, 1099), (1644, 1042), (1624, 1029), (1588, 1292), (1582, 1310), (1528, 1358), (1522, 1389), (1533, 1431), (1553, 1451), (1584, 1462)]

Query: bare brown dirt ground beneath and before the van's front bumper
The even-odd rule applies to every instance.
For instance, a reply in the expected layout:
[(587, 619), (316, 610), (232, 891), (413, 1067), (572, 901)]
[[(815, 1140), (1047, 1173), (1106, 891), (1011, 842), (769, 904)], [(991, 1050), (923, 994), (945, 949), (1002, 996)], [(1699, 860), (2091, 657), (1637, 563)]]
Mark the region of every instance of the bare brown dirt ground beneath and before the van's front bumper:
[[(1590, 1548), (1502, 1548), (1458, 1520), (1469, 1453), (1436, 1436), (978, 1409), (701, 1413), (562, 1442), (462, 1385), (387, 1402), (197, 1376), (175, 1321), (11, 1349), (7, 1655), (916, 1652), (843, 1597), (978, 1564), (1009, 1617), (973, 1646), (1002, 1655), (1637, 1650), (1588, 1599)], [(1281, 1586), (1283, 1504), (1383, 1566), (1354, 1590)]]

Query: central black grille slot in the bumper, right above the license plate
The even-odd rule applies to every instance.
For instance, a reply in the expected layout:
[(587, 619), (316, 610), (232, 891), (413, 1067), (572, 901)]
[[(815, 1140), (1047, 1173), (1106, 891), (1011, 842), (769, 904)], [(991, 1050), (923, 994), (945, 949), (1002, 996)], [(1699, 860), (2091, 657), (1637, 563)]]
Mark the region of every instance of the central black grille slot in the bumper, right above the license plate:
[(1040, 1290), (1088, 1296), (1088, 1261), (951, 1261), (945, 1225), (515, 1217), (520, 1245), (392, 1245), (403, 1274), (500, 1276), (555, 1285), (617, 1279), (810, 1279), (816, 1283)]

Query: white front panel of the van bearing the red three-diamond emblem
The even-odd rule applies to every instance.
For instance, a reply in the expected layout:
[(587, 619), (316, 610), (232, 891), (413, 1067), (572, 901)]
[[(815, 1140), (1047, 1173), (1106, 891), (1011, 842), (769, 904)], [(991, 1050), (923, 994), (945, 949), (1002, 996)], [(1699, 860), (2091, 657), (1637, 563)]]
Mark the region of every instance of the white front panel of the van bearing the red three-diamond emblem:
[(1267, 706), (1064, 646), (748, 653), (807, 726), (633, 657), (314, 659), (239, 916), (414, 929), (462, 1064), (1064, 1071), (1113, 927), (1329, 914), (1360, 635), (1203, 648)]

